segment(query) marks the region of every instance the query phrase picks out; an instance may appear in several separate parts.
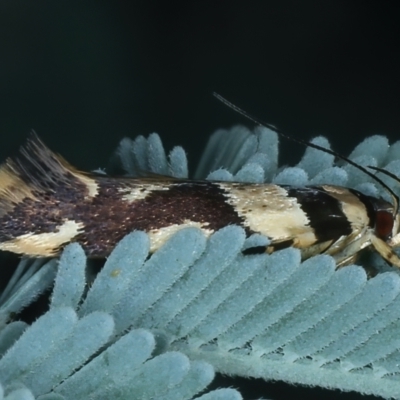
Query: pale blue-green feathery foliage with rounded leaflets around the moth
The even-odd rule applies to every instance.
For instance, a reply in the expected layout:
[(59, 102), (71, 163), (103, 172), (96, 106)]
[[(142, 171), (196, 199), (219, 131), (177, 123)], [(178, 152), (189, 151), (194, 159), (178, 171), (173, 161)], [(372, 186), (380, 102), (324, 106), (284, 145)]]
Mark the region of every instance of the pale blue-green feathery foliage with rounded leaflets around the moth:
[[(268, 129), (221, 130), (196, 177), (381, 194), (329, 154), (307, 149), (297, 166), (282, 170), (277, 156)], [(380, 136), (350, 157), (400, 170), (400, 145)], [(155, 134), (124, 139), (117, 159), (129, 175), (187, 177), (185, 152), (167, 156)], [(149, 256), (147, 235), (132, 232), (93, 280), (78, 244), (67, 246), (58, 267), (22, 261), (0, 298), (0, 399), (240, 399), (234, 389), (202, 392), (214, 371), (400, 398), (397, 272), (367, 279), (358, 266), (335, 270), (328, 256), (301, 262), (295, 249), (243, 255), (265, 243), (238, 226), (208, 240), (188, 228)], [(376, 255), (368, 263), (383, 265)], [(10, 322), (53, 281), (47, 313), (30, 326)]]

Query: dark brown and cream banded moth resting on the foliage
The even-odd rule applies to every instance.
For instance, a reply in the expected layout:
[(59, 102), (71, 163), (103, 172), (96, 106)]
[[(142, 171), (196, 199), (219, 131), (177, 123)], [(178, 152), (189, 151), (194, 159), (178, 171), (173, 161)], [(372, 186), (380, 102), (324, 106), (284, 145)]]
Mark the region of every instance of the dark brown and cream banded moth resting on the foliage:
[(247, 235), (267, 236), (268, 253), (295, 247), (303, 259), (329, 254), (340, 267), (372, 246), (400, 267), (392, 250), (399, 242), (396, 197), (391, 204), (332, 185), (86, 173), (35, 134), (0, 166), (0, 250), (53, 257), (66, 244), (79, 242), (87, 256), (106, 257), (133, 230), (146, 231), (155, 251), (184, 227), (198, 227), (209, 236), (230, 224), (242, 226)]

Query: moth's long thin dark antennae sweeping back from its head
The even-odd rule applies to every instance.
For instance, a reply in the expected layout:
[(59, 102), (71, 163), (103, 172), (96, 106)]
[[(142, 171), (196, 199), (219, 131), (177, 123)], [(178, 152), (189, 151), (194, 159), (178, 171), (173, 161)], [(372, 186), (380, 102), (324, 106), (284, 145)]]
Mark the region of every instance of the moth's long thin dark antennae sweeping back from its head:
[[(393, 216), (396, 216), (398, 211), (399, 211), (399, 197), (396, 195), (396, 193), (388, 186), (386, 185), (380, 178), (378, 178), (376, 175), (374, 175), (372, 172), (368, 171), (366, 168), (364, 168), (362, 165), (358, 165), (357, 163), (355, 163), (354, 161), (340, 155), (339, 153), (336, 153), (336, 151), (330, 150), (330, 149), (326, 149), (325, 147), (319, 146), (318, 144), (315, 143), (310, 143), (307, 142), (305, 140), (302, 139), (296, 139), (292, 136), (287, 135), (285, 132), (281, 131), (280, 129), (276, 128), (275, 126), (269, 124), (268, 122), (264, 122), (262, 119), (260, 118), (256, 118), (253, 115), (249, 114), (247, 111), (244, 111), (243, 109), (241, 109), (240, 107), (238, 107), (237, 105), (231, 103), (229, 100), (225, 99), (225, 97), (222, 97), (220, 94), (213, 92), (213, 96), (216, 97), (221, 103), (225, 104), (226, 106), (228, 106), (229, 108), (231, 108), (232, 110), (236, 111), (237, 113), (243, 115), (244, 117), (246, 117), (248, 120), (254, 122), (257, 125), (261, 125), (264, 126), (266, 128), (269, 128), (271, 130), (273, 130), (274, 132), (276, 132), (278, 135), (284, 137), (285, 139), (288, 140), (292, 140), (293, 142), (296, 143), (300, 143), (303, 146), (306, 147), (312, 147), (314, 149), (317, 150), (321, 150), (324, 151), (325, 153), (328, 154), (332, 154), (333, 156), (340, 158), (343, 161), (346, 161), (347, 163), (349, 163), (350, 165), (352, 165), (353, 167), (359, 169), (360, 171), (364, 172), (365, 174), (367, 174), (368, 176), (370, 176), (371, 178), (373, 178), (376, 182), (378, 182), (384, 189), (386, 189), (388, 191), (388, 193), (390, 194), (390, 196), (393, 199)], [(370, 167), (371, 168), (371, 167)], [(372, 167), (372, 169), (383, 172), (384, 170), (381, 170), (379, 168), (376, 167)], [(386, 175), (395, 178), (393, 174), (390, 174), (390, 172), (385, 172)]]

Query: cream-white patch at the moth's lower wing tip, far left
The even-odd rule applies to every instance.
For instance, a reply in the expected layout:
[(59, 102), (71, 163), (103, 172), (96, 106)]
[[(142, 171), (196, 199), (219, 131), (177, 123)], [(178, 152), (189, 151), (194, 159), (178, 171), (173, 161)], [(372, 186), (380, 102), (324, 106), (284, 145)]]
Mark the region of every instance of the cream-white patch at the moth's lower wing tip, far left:
[(33, 257), (49, 257), (57, 254), (58, 248), (70, 242), (83, 229), (82, 222), (67, 220), (55, 232), (26, 233), (0, 243), (0, 250), (12, 251)]

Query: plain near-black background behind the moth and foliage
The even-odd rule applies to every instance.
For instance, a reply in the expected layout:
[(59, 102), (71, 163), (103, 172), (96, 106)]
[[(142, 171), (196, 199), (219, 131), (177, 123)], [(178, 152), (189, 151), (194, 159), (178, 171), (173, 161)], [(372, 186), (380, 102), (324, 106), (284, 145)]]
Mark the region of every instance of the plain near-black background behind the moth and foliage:
[[(35, 129), (97, 168), (122, 137), (157, 132), (193, 167), (214, 130), (248, 124), (213, 91), (344, 154), (370, 134), (393, 142), (399, 40), (397, 7), (383, 1), (2, 0), (0, 159)], [(301, 153), (285, 143), (282, 161)], [(246, 398), (359, 398), (249, 382), (261, 388)]]

